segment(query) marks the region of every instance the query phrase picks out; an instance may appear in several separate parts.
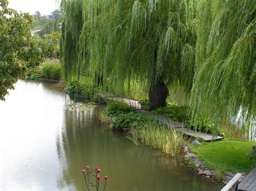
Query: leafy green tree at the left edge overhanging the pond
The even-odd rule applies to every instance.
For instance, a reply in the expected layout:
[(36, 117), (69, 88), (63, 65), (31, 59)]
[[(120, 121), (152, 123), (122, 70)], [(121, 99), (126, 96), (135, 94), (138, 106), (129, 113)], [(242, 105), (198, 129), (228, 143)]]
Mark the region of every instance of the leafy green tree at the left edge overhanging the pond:
[(36, 39), (31, 34), (33, 17), (8, 9), (8, 1), (0, 1), (0, 100), (8, 89), (24, 77), (28, 68), (42, 61)]

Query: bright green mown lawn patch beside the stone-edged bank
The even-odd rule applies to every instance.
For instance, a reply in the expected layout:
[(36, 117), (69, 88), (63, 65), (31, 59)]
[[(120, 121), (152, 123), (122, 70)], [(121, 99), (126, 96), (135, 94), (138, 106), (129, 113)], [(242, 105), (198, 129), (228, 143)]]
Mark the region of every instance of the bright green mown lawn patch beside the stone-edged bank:
[(212, 143), (203, 143), (203, 146), (190, 146), (200, 160), (208, 168), (221, 168), (232, 173), (249, 172), (256, 164), (249, 159), (252, 146), (255, 142), (238, 140), (221, 140)]

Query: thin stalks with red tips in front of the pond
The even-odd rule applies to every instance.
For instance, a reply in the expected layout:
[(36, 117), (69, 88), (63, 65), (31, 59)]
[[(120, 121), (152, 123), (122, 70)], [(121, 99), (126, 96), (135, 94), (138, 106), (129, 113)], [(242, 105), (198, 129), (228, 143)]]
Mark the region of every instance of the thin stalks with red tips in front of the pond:
[[(96, 167), (96, 168), (95, 168), (95, 171), (89, 172), (90, 166), (86, 166), (86, 169), (87, 169), (87, 172), (86, 172), (85, 169), (82, 169), (82, 173), (83, 173), (83, 175), (84, 175), (84, 180), (85, 180), (85, 183), (86, 183), (86, 188), (87, 188), (87, 190), (90, 191), (90, 190), (91, 190), (91, 186), (93, 186), (93, 187), (96, 187), (96, 190), (98, 191), (98, 190), (99, 190), (99, 181), (100, 181), (100, 179), (101, 179), (99, 173), (101, 172), (101, 170), (100, 170), (98, 167)], [(91, 173), (95, 173), (95, 175), (93, 175), (93, 176), (96, 177), (95, 183), (89, 182), (89, 175), (90, 175)], [(87, 180), (86, 180), (86, 179), (87, 179)], [(105, 188), (106, 188), (107, 176), (104, 176), (104, 180), (105, 180), (105, 186), (104, 186), (104, 188), (103, 188), (103, 191), (104, 191)]]

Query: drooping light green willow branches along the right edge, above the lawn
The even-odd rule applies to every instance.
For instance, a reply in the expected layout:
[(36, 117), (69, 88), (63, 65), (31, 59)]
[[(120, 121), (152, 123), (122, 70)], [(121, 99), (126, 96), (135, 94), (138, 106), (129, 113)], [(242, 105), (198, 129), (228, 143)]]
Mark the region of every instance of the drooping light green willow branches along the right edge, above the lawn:
[(192, 117), (255, 126), (255, 1), (200, 1), (197, 19)]

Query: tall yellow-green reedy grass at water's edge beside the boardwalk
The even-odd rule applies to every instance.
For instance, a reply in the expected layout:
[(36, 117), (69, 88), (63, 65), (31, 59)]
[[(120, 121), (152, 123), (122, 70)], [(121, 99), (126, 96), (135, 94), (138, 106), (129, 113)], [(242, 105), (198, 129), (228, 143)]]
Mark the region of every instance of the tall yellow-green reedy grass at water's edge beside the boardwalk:
[(133, 140), (139, 140), (172, 156), (178, 154), (183, 142), (182, 133), (173, 128), (166, 128), (162, 123), (152, 118), (139, 123), (137, 126), (132, 126), (131, 130)]

